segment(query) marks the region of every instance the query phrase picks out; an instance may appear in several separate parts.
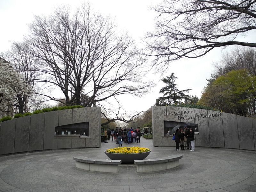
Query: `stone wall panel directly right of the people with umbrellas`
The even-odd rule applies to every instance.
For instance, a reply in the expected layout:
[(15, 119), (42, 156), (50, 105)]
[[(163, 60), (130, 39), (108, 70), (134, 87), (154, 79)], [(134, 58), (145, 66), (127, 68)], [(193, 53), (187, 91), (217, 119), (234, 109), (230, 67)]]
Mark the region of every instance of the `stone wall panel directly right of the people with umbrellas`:
[[(198, 124), (199, 134), (195, 134), (196, 146), (210, 147), (208, 111), (205, 109), (194, 109), (195, 124)], [(197, 118), (198, 117), (198, 118)]]

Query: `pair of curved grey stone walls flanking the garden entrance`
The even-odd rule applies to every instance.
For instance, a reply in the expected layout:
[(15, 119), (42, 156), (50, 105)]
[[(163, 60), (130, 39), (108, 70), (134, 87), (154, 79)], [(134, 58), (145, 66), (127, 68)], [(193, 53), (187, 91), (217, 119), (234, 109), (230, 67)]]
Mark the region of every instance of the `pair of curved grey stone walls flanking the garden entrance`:
[[(175, 146), (172, 136), (166, 133), (176, 125), (184, 127), (189, 122), (198, 127), (198, 134), (195, 134), (197, 147), (255, 151), (255, 119), (169, 106), (152, 107), (153, 145)], [(88, 147), (101, 147), (100, 107), (51, 111), (0, 123), (0, 155)]]

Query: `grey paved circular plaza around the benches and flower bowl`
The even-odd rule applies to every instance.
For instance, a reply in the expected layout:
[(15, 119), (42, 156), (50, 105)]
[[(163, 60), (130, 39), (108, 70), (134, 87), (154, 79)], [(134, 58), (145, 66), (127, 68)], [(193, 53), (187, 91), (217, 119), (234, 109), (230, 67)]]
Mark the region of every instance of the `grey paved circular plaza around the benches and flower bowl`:
[(73, 156), (107, 159), (101, 148), (43, 151), (0, 157), (0, 191), (88, 191), (88, 192), (252, 192), (256, 191), (256, 152), (225, 148), (196, 147), (175, 151), (175, 147), (153, 147), (152, 140), (123, 146), (148, 147), (147, 158), (183, 155), (180, 166), (160, 172), (137, 173), (122, 165), (118, 173), (100, 173), (75, 167)]

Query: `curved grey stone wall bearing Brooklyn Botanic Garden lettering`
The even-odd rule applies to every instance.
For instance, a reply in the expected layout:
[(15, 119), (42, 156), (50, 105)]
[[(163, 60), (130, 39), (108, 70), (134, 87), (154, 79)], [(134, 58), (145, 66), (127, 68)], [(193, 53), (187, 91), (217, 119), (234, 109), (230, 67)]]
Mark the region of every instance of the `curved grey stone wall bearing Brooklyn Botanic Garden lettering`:
[(175, 146), (172, 136), (164, 136), (164, 121), (198, 124), (198, 147), (256, 149), (256, 119), (205, 109), (152, 106), (154, 146)]

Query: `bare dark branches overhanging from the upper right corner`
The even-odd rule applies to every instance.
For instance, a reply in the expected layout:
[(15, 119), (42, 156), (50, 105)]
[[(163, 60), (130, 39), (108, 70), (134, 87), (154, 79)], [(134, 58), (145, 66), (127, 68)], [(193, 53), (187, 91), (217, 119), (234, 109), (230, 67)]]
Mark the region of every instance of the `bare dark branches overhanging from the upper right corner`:
[(255, 0), (164, 0), (153, 8), (156, 32), (148, 33), (148, 53), (154, 64), (168, 66), (180, 58), (197, 58), (215, 47), (253, 42), (236, 41), (238, 34), (256, 29)]

